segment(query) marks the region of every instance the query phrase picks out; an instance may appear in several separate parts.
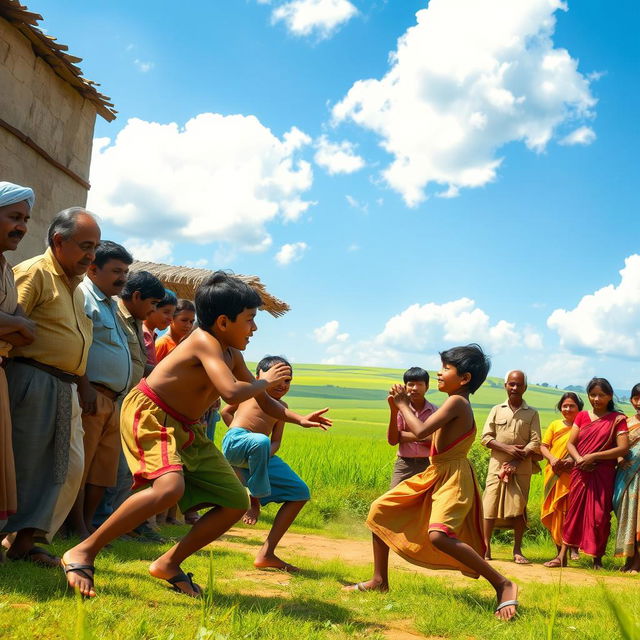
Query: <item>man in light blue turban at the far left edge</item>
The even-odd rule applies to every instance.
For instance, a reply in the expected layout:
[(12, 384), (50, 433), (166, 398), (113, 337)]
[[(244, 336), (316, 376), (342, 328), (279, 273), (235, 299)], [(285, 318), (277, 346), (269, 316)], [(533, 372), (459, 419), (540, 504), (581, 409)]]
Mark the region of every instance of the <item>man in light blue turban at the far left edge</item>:
[(4, 367), (14, 346), (31, 344), (35, 337), (35, 324), (18, 304), (13, 271), (4, 253), (15, 251), (27, 232), (34, 200), (29, 187), (0, 182), (0, 531), (17, 509), (9, 392)]

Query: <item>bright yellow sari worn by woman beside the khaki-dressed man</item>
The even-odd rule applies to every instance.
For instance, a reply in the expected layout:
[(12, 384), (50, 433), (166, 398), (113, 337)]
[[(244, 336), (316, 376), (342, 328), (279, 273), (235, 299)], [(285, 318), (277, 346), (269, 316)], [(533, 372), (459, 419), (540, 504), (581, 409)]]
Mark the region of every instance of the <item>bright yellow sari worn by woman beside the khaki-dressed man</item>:
[[(562, 420), (554, 420), (544, 433), (542, 444), (546, 445), (551, 455), (562, 460), (567, 457), (567, 442), (571, 435), (571, 426)], [(544, 501), (540, 521), (549, 530), (553, 541), (562, 544), (562, 525), (567, 511), (567, 496), (571, 484), (571, 472), (563, 472), (557, 476), (550, 464), (543, 471)]]

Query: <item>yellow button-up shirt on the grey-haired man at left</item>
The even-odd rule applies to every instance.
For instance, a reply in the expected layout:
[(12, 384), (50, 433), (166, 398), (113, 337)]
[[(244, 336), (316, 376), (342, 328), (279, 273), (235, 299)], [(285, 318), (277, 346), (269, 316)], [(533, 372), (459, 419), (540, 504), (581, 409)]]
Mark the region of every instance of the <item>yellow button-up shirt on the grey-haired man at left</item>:
[(69, 279), (51, 249), (13, 268), (18, 303), (36, 323), (36, 339), (14, 347), (13, 357), (31, 358), (67, 373), (83, 375), (93, 337), (84, 312), (82, 276)]

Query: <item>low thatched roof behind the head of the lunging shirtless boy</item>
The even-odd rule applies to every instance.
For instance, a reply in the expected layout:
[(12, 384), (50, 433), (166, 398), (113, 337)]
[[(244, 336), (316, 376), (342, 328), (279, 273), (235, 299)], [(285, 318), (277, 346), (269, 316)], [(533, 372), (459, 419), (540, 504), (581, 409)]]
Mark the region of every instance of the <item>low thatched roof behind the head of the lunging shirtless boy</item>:
[[(160, 279), (162, 284), (174, 291), (178, 298), (186, 298), (193, 300), (196, 289), (200, 283), (210, 276), (213, 271), (209, 269), (193, 269), (191, 267), (176, 267), (170, 264), (158, 264), (157, 262), (142, 262), (135, 260), (130, 267), (131, 271), (148, 271)], [(268, 311), (272, 316), (277, 318), (289, 311), (290, 307), (286, 302), (272, 296), (260, 282), (258, 276), (241, 276), (234, 274), (236, 278), (240, 278), (250, 287), (255, 289), (264, 303), (261, 309)]]

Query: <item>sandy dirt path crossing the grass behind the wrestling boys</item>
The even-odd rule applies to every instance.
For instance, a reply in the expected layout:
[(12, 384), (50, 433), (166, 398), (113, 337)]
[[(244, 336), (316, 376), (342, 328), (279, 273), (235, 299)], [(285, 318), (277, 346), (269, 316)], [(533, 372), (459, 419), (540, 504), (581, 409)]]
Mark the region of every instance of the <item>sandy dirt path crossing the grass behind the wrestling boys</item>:
[[(264, 540), (266, 532), (263, 530), (251, 530), (233, 528), (215, 546), (236, 549), (254, 555), (259, 545)], [(365, 540), (349, 540), (324, 538), (310, 534), (287, 533), (279, 546), (281, 557), (291, 559), (289, 556), (306, 556), (315, 560), (339, 559), (347, 564), (366, 565), (371, 563), (371, 544)], [(543, 584), (557, 584), (559, 571), (547, 569), (541, 564), (516, 565), (513, 562), (494, 560), (491, 563), (498, 571), (517, 582), (536, 582)], [(468, 583), (468, 578), (457, 571), (433, 571), (411, 565), (395, 554), (391, 554), (390, 566), (398, 571), (410, 571), (423, 575), (447, 578), (457, 584)], [(567, 568), (562, 572), (564, 584), (576, 586), (597, 585), (600, 576), (594, 571), (585, 569)], [(626, 587), (632, 586), (633, 578), (626, 576), (607, 576), (607, 586)]]

